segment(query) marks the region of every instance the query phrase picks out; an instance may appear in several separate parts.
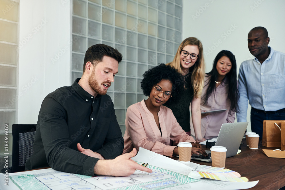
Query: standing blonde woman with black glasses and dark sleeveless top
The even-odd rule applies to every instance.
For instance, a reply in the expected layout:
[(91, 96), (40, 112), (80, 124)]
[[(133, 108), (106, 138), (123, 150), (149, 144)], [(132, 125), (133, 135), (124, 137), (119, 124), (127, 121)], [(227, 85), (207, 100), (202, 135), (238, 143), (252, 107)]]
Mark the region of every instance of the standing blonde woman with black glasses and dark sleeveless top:
[(186, 38), (179, 46), (174, 60), (167, 65), (174, 67), (184, 78), (184, 92), (180, 101), (168, 105), (183, 130), (190, 135), (190, 103), (196, 142), (205, 139), (201, 134), (201, 93), (204, 87), (205, 63), (203, 46), (195, 37)]

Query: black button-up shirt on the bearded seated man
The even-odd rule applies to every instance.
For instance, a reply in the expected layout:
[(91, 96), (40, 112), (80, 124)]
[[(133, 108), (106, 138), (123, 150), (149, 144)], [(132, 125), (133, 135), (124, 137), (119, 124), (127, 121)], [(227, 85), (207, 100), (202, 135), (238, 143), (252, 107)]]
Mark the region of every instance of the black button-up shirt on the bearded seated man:
[(94, 176), (99, 160), (82, 154), (76, 144), (113, 159), (123, 153), (124, 141), (108, 95), (94, 97), (76, 79), (72, 86), (48, 94), (41, 105), (34, 154), (26, 170), (50, 166), (55, 170)]

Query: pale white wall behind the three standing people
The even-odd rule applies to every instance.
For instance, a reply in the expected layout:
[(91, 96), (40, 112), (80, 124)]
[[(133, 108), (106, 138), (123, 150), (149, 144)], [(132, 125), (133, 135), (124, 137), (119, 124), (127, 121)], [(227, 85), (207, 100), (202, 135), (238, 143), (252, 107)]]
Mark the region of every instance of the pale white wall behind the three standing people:
[[(183, 0), (182, 39), (194, 36), (201, 40), (206, 72), (212, 69), (221, 50), (233, 52), (239, 69), (241, 62), (253, 58), (247, 47), (247, 34), (256, 26), (267, 29), (269, 46), (285, 52), (284, 7), (282, 0)], [(250, 121), (250, 108), (247, 120)]]

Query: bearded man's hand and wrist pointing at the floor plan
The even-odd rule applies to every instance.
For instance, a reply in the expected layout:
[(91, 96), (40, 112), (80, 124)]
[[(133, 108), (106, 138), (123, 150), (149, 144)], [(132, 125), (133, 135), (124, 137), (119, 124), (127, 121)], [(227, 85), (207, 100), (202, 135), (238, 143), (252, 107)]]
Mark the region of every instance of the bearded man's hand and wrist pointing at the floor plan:
[(132, 152), (120, 155), (113, 160), (98, 160), (94, 167), (94, 173), (97, 175), (129, 176), (136, 169), (151, 173), (151, 169), (141, 166), (131, 159), (136, 154), (137, 150), (134, 148)]

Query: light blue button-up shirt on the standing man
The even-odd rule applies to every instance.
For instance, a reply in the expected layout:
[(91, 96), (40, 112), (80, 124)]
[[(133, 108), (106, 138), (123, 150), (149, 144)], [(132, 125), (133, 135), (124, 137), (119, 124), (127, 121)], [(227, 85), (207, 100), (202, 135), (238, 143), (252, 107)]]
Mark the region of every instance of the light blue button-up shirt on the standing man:
[(247, 120), (248, 101), (255, 109), (264, 111), (285, 108), (285, 54), (270, 49), (262, 64), (257, 58), (241, 63), (237, 122)]

